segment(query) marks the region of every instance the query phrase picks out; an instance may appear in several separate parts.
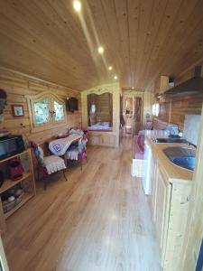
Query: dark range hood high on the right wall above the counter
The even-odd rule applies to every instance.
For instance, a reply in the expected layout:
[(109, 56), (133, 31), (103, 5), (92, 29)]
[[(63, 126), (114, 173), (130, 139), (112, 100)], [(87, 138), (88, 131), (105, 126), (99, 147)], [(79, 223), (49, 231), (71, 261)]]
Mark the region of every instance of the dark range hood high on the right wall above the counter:
[(201, 66), (197, 66), (194, 69), (194, 74), (191, 79), (180, 83), (180, 85), (175, 86), (164, 92), (164, 95), (191, 95), (203, 93), (203, 78), (201, 77)]

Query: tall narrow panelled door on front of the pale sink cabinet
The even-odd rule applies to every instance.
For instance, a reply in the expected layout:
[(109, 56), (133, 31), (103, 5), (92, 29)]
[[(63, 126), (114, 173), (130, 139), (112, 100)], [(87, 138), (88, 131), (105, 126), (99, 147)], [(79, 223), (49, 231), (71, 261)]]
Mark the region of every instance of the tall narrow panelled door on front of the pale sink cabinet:
[(156, 185), (155, 228), (158, 242), (161, 248), (161, 259), (163, 259), (170, 216), (171, 184), (167, 180), (167, 177), (164, 175), (164, 173), (161, 171), (160, 166), (157, 167)]

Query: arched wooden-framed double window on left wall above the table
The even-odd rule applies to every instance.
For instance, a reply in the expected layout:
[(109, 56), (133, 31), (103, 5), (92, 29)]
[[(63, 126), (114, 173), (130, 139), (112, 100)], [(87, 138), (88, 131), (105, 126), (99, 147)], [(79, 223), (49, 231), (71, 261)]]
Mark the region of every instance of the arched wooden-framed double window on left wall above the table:
[(66, 124), (65, 101), (45, 91), (39, 95), (27, 96), (31, 132), (40, 132)]

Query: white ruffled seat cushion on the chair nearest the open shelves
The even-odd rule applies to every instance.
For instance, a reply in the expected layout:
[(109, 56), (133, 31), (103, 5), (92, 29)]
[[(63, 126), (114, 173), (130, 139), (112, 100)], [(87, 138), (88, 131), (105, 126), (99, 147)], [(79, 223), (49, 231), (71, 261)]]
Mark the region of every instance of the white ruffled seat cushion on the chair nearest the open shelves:
[(44, 157), (43, 164), (46, 167), (48, 174), (57, 173), (66, 168), (64, 160), (57, 155)]

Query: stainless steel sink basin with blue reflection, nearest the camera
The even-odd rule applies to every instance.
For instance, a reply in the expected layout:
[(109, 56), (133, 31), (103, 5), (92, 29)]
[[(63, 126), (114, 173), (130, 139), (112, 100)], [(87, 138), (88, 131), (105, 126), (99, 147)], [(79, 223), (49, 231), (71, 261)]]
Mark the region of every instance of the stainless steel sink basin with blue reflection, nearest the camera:
[(189, 147), (168, 147), (163, 153), (170, 159), (171, 163), (182, 168), (194, 171), (196, 150)]

